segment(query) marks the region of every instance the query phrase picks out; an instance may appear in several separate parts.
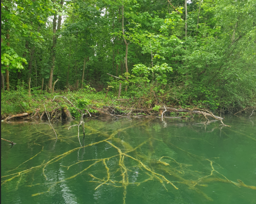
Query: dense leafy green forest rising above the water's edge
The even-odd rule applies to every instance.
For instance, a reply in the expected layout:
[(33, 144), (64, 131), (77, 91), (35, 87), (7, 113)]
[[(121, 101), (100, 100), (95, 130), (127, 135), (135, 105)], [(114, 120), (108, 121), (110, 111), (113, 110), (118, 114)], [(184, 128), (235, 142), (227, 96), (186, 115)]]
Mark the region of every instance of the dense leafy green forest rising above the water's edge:
[(254, 0), (2, 0), (1, 18), (2, 118), (56, 94), (91, 113), (256, 105)]

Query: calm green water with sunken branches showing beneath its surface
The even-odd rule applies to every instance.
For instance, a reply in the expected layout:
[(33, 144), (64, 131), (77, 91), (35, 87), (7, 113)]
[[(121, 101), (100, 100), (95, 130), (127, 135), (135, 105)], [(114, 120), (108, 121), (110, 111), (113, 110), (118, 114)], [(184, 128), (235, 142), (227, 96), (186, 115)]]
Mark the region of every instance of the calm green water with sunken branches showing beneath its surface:
[(256, 203), (255, 119), (204, 120), (2, 123), (1, 202)]

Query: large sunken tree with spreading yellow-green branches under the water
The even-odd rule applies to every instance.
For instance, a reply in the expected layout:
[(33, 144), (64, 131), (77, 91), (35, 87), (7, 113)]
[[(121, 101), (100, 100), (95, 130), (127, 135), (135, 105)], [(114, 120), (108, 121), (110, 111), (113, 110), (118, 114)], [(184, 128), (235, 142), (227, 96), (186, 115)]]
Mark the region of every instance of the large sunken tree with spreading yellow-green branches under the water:
[[(146, 122), (148, 122), (148, 120)], [(169, 140), (167, 140), (169, 138), (169, 137), (167, 137), (168, 135), (166, 135), (166, 138), (163, 137), (162, 140), (158, 140), (157, 138), (155, 138), (155, 135), (153, 136), (152, 134), (147, 132), (146, 128), (144, 128), (147, 126), (146, 122), (140, 121), (136, 124), (126, 126), (122, 129), (111, 130), (108, 132), (102, 132), (100, 130), (96, 130), (91, 125), (90, 126), (88, 125), (88, 126), (86, 126), (86, 129), (90, 132), (87, 133), (86, 135), (94, 134), (94, 135), (98, 135), (100, 137), (104, 137), (104, 139), (94, 142), (94, 143), (91, 143), (91, 144), (88, 144), (88, 145), (83, 145), (82, 147), (76, 147), (74, 149), (66, 151), (66, 152), (62, 153), (61, 155), (54, 156), (53, 158), (49, 159), (49, 161), (47, 161), (47, 162), (45, 162), (45, 161), (42, 162), (41, 165), (31, 167), (31, 168), (28, 168), (28, 169), (20, 171), (20, 172), (2, 176), (2, 178), (11, 176), (9, 179), (2, 181), (2, 185), (6, 184), (7, 182), (13, 181), (15, 179), (14, 182), (16, 182), (17, 187), (18, 187), (18, 186), (20, 186), (20, 183), (22, 183), (24, 174), (33, 173), (40, 169), (42, 169), (41, 175), (45, 176), (46, 180), (48, 181), (48, 179), (47, 179), (48, 175), (46, 175), (46, 173), (45, 173), (46, 168), (51, 164), (54, 164), (54, 163), (56, 164), (57, 161), (61, 161), (60, 166), (66, 167), (67, 170), (69, 170), (70, 167), (78, 165), (82, 162), (86, 162), (87, 165), (84, 164), (86, 166), (83, 167), (79, 172), (75, 172), (73, 175), (70, 175), (69, 177), (64, 177), (62, 180), (56, 180), (53, 182), (49, 181), (47, 183), (47, 185), (49, 184), (48, 190), (46, 190), (45, 192), (35, 193), (32, 196), (40, 195), (42, 193), (48, 193), (57, 184), (68, 181), (70, 179), (73, 179), (76, 176), (81, 175), (83, 172), (86, 172), (88, 169), (93, 167), (95, 164), (99, 164), (99, 163), (103, 164), (101, 169), (99, 168), (99, 166), (98, 167), (95, 166), (94, 168), (97, 168), (96, 171), (99, 170), (100, 172), (103, 173), (104, 176), (97, 177), (97, 176), (93, 175), (94, 174), (94, 169), (93, 169), (91, 172), (87, 172), (87, 173), (89, 176), (91, 176), (93, 178), (94, 181), (87, 181), (87, 182), (95, 183), (95, 187), (94, 187), (95, 190), (102, 188), (102, 186), (104, 186), (104, 185), (112, 186), (112, 187), (116, 187), (116, 188), (122, 188), (123, 189), (123, 203), (125, 203), (126, 194), (128, 193), (127, 192), (127, 189), (129, 188), (128, 186), (131, 186), (131, 185), (139, 186), (142, 183), (145, 183), (147, 181), (154, 181), (154, 180), (155, 180), (155, 182), (160, 182), (160, 184), (166, 190), (168, 190), (167, 189), (168, 186), (171, 187), (170, 185), (172, 185), (172, 187), (174, 187), (175, 189), (178, 189), (178, 187), (179, 187), (179, 189), (182, 189), (182, 188), (180, 188), (180, 186), (184, 185), (187, 188), (193, 190), (194, 192), (202, 195), (207, 200), (212, 200), (212, 198), (210, 198), (206, 193), (204, 193), (203, 190), (201, 190), (201, 187), (207, 187), (207, 183), (210, 183), (210, 182), (212, 182), (212, 183), (215, 183), (215, 182), (229, 183), (232, 185), (236, 185), (238, 187), (245, 187), (248, 189), (256, 190), (256, 187), (254, 187), (254, 186), (248, 186), (240, 180), (238, 180), (238, 183), (232, 182), (225, 175), (221, 174), (221, 171), (219, 171), (217, 169), (219, 164), (212, 161), (212, 159), (217, 159), (217, 158), (209, 158), (208, 159), (208, 158), (205, 158), (205, 157), (202, 157), (199, 155), (192, 154), (192, 153), (186, 151), (185, 149), (182, 149), (182, 148), (176, 146), (175, 144), (170, 143)], [(79, 124), (80, 124), (80, 122), (79, 122)], [(78, 126), (78, 124), (71, 125), (70, 127), (72, 127), (72, 126)], [(146, 139), (142, 140), (141, 142), (139, 142), (139, 144), (129, 143), (129, 142), (127, 142), (127, 140), (124, 141), (123, 139), (117, 137), (118, 133), (123, 132), (123, 133), (127, 134), (125, 132), (127, 129), (131, 129), (133, 127), (139, 127), (139, 126), (142, 126), (143, 131), (145, 130), (146, 135), (148, 135), (148, 137)], [(76, 137), (76, 136), (74, 136), (74, 137)], [(64, 139), (64, 137), (62, 137), (62, 138)], [(65, 138), (68, 139), (68, 137), (65, 137)], [(154, 140), (154, 139), (156, 139), (156, 140)], [(198, 169), (195, 170), (193, 167), (191, 167), (192, 166), (191, 164), (179, 163), (179, 160), (177, 158), (172, 158), (172, 155), (168, 155), (168, 154), (160, 156), (159, 158), (152, 157), (153, 156), (152, 152), (155, 151), (154, 146), (153, 146), (153, 141), (161, 141), (161, 142), (164, 142), (165, 145), (167, 145), (167, 147), (169, 147), (169, 148), (174, 149), (173, 147), (175, 147), (175, 148), (177, 148), (177, 150), (181, 150), (189, 158), (193, 157), (193, 158), (197, 159), (202, 164), (203, 169), (200, 171), (198, 171)], [(71, 164), (68, 163), (65, 166), (62, 165), (62, 163), (64, 161), (66, 161), (66, 160), (62, 161), (63, 158), (65, 158), (71, 154), (74, 154), (77, 150), (79, 151), (80, 148), (86, 148), (86, 147), (94, 146), (94, 145), (97, 145), (100, 143), (107, 143), (107, 144), (111, 145), (112, 147), (114, 147), (115, 154), (108, 158), (104, 158), (104, 157), (98, 158), (98, 159), (88, 158), (88, 160), (82, 160), (82, 161), (78, 160), (76, 162), (71, 162)], [(148, 144), (152, 148), (150, 150), (150, 152), (147, 152), (148, 154), (142, 151), (142, 149), (145, 149), (145, 148), (141, 148), (142, 145), (146, 145), (146, 144)], [(37, 155), (39, 153), (37, 153)], [(33, 159), (34, 157), (32, 157), (31, 159)], [(128, 166), (126, 164), (127, 159), (133, 160), (132, 166)], [(108, 163), (108, 161), (110, 161), (110, 163)], [(207, 165), (205, 165), (205, 163), (207, 163)], [(115, 164), (114, 168), (113, 168), (113, 164)], [(129, 164), (130, 164), (130, 162), (129, 162)], [(135, 171), (134, 168), (140, 169), (139, 172), (137, 170)], [(15, 170), (15, 169), (13, 169), (13, 170)], [(72, 172), (73, 172), (73, 169), (71, 170), (70, 173), (72, 173)], [(134, 182), (130, 178), (130, 176), (131, 176), (130, 172), (134, 172), (137, 174), (144, 174), (146, 177), (142, 177), (143, 178), (142, 180), (138, 180), (138, 181)], [(49, 176), (51, 176), (51, 174), (49, 174)], [(170, 184), (170, 185), (167, 185), (165, 187), (166, 184)], [(35, 185), (46, 185), (46, 184), (45, 183), (34, 184), (34, 185), (31, 184), (31, 185), (29, 185), (29, 187), (32, 187)], [(177, 186), (177, 185), (179, 185), (179, 186)]]

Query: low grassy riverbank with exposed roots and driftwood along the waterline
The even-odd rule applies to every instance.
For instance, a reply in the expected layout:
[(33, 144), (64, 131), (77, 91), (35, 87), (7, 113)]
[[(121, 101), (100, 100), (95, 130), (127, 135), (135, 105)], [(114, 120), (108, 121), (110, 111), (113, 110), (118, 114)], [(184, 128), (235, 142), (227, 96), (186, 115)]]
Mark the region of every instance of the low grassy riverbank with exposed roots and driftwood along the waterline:
[[(61, 97), (63, 96), (63, 97)], [(173, 97), (171, 97), (173, 98)], [(94, 88), (87, 88), (78, 91), (55, 91), (49, 93), (41, 90), (33, 90), (28, 93), (23, 87), (15, 91), (2, 93), (1, 99), (1, 120), (11, 119), (48, 119), (50, 120), (75, 119), (84, 117), (100, 117), (109, 115), (112, 117), (169, 117), (189, 118), (195, 114), (203, 117), (215, 117), (217, 115), (232, 111), (251, 112), (255, 107), (246, 107), (244, 110), (219, 108), (210, 110), (204, 104), (180, 103), (179, 99), (168, 100), (163, 97), (127, 97), (115, 95), (112, 92), (96, 92)]]

